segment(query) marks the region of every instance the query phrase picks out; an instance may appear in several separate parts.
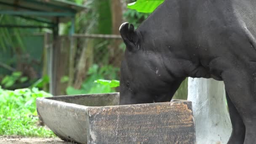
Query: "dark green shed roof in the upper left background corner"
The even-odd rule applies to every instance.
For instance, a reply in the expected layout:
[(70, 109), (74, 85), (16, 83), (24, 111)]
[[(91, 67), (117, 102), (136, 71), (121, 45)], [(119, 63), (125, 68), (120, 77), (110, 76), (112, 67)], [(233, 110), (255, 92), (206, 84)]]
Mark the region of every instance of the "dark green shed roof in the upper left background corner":
[(43, 18), (49, 21), (66, 22), (82, 11), (83, 5), (67, 0), (0, 0), (0, 14)]

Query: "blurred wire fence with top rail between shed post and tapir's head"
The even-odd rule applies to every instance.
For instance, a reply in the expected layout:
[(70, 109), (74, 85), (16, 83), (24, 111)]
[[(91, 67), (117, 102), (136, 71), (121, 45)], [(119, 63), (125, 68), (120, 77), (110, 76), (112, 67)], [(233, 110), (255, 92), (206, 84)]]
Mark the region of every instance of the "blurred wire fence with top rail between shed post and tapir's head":
[[(47, 41), (49, 38), (45, 39)], [(54, 46), (49, 47), (49, 45)], [(45, 71), (48, 71), (48, 75), (52, 77), (50, 91), (53, 91), (54, 95), (65, 94), (67, 85), (79, 89), (83, 80), (90, 73), (88, 72), (90, 67), (95, 65), (99, 69), (109, 71), (109, 75), (104, 78), (119, 79), (117, 69), (120, 67), (125, 49), (120, 35), (74, 34), (72, 37), (59, 36), (54, 43), (51, 41), (45, 43), (45, 48), (47, 49), (45, 60), (48, 61), (46, 62), (48, 70)], [(51, 56), (50, 51), (57, 51), (56, 55)], [(51, 75), (53, 73), (57, 75)], [(69, 77), (69, 83), (61, 82), (61, 78), (64, 76)]]

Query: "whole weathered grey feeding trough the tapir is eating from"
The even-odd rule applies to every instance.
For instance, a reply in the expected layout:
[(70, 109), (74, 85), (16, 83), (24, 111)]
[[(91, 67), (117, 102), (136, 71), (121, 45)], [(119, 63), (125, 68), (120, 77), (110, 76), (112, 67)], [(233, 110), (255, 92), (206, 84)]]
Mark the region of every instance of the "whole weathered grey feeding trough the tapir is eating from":
[(61, 139), (81, 144), (195, 144), (190, 101), (118, 105), (119, 93), (37, 98), (37, 112)]

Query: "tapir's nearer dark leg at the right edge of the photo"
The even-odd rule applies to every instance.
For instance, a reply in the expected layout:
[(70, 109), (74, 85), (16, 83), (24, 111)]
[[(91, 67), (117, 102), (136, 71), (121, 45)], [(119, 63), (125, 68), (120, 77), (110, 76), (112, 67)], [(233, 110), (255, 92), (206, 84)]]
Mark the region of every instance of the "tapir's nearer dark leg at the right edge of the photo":
[[(238, 67), (239, 66), (239, 67)], [(221, 76), (229, 98), (245, 124), (244, 144), (256, 143), (256, 83), (244, 65), (224, 69)], [(234, 138), (237, 139), (237, 138)], [(239, 139), (237, 139), (239, 140)]]

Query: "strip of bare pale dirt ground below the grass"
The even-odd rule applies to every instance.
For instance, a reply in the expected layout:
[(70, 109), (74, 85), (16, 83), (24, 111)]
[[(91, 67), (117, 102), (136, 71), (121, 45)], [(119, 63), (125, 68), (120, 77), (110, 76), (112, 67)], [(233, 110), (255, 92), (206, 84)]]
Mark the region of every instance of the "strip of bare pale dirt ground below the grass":
[(59, 138), (25, 138), (21, 136), (0, 136), (0, 144), (74, 144)]

